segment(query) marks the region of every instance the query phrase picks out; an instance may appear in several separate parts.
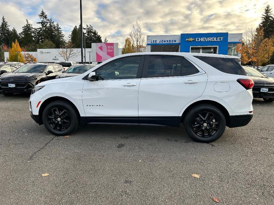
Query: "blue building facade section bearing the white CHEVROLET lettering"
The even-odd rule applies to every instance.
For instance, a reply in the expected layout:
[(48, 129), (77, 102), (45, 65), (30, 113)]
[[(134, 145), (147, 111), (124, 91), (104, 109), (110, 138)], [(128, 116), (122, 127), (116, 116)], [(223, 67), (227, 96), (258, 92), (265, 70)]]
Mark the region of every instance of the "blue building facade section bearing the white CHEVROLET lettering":
[(190, 52), (190, 46), (218, 46), (218, 54), (227, 55), (228, 32), (182, 33), (180, 52)]

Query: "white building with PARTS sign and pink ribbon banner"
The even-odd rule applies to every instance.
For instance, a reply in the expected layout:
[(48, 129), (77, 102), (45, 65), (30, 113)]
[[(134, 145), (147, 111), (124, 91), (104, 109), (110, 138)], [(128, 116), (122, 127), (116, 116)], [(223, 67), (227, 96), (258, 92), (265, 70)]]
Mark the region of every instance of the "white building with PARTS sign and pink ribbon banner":
[[(86, 63), (98, 61), (105, 61), (114, 56), (121, 55), (122, 48), (119, 48), (118, 43), (92, 43), (92, 48), (83, 49), (84, 56), (86, 56)], [(86, 52), (85, 52), (86, 51)], [(62, 53), (68, 53), (66, 56), (69, 56), (69, 52), (75, 53), (68, 61), (81, 62), (81, 48), (73, 48), (72, 50), (61, 49), (61, 48), (50, 48), (50, 49), (37, 49), (37, 52), (22, 52), (32, 54), (37, 62), (56, 62), (56, 61), (65, 61), (66, 59), (61, 55)], [(5, 52), (5, 61), (9, 57), (9, 52)], [(85, 61), (85, 58), (84, 58)]]

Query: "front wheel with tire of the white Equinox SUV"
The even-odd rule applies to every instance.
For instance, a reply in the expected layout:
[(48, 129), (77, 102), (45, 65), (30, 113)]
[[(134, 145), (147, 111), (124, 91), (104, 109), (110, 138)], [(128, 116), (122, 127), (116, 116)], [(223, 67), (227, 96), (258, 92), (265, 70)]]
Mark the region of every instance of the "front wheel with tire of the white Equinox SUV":
[(70, 103), (58, 100), (46, 106), (42, 114), (42, 121), (50, 133), (64, 136), (78, 128), (79, 116), (77, 110)]

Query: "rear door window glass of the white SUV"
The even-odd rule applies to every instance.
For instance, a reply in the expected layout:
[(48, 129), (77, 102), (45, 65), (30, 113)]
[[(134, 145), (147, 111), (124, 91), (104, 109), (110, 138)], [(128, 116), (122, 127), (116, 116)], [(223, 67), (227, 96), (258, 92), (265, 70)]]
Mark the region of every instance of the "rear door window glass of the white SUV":
[(180, 56), (149, 56), (148, 78), (186, 76), (198, 72), (193, 64)]

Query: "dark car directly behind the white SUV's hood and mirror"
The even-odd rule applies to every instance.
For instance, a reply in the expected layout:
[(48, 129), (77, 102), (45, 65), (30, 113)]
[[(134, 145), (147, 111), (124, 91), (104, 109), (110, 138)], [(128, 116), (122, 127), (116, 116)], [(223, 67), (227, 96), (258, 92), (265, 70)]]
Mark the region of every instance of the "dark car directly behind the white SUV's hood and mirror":
[(65, 77), (72, 77), (72, 76), (80, 75), (80, 74), (88, 71), (89, 69), (92, 69), (94, 66), (96, 66), (96, 65), (94, 65), (94, 64), (72, 65), (66, 71), (63, 71), (62, 74), (58, 75), (56, 78), (65, 78)]

